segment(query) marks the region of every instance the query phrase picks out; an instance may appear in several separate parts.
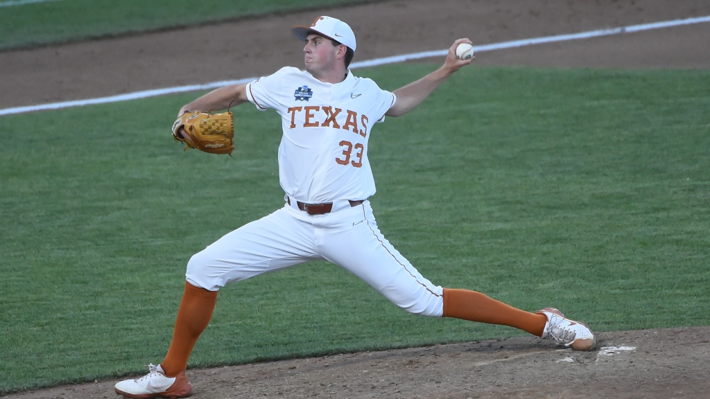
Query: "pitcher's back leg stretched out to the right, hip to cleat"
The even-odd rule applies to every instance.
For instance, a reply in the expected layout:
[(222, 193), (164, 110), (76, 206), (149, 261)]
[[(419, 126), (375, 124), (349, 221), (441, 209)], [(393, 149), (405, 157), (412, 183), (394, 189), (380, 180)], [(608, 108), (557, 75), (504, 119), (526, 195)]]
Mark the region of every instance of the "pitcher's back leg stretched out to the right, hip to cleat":
[(351, 212), (347, 223), (329, 231), (324, 257), (350, 270), (395, 305), (417, 315), (515, 327), (578, 350), (589, 350), (594, 344), (589, 328), (557, 310), (525, 312), (476, 291), (432, 284), (384, 238), (369, 202), (357, 208), (359, 214)]

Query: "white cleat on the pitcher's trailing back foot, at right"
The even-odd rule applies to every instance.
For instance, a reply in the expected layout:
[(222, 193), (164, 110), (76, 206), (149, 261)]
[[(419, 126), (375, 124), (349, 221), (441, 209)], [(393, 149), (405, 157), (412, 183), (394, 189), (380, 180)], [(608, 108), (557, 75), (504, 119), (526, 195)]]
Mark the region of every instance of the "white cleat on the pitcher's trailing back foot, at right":
[(596, 338), (586, 324), (567, 319), (554, 307), (545, 307), (537, 313), (547, 317), (542, 338), (552, 338), (558, 344), (571, 346), (577, 351), (590, 351), (594, 347)]

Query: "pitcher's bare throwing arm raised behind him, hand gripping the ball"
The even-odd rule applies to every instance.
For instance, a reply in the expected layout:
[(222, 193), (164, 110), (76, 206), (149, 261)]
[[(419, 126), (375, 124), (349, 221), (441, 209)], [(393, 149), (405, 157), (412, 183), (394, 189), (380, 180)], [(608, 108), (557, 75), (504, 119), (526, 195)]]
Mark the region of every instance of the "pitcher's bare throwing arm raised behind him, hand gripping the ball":
[(447, 53), (446, 60), (444, 60), (444, 65), (439, 67), (438, 70), (431, 72), (420, 80), (396, 89), (393, 93), (397, 96), (397, 102), (387, 111), (386, 115), (401, 116), (415, 109), (416, 106), (429, 97), (429, 94), (432, 94), (444, 80), (447, 80), (447, 77), (461, 69), (464, 65), (469, 65), (474, 60), (474, 57), (468, 60), (460, 60), (456, 56), (457, 45), (461, 43), (471, 43), (471, 40), (467, 38), (456, 40), (451, 48), (449, 48), (449, 53)]

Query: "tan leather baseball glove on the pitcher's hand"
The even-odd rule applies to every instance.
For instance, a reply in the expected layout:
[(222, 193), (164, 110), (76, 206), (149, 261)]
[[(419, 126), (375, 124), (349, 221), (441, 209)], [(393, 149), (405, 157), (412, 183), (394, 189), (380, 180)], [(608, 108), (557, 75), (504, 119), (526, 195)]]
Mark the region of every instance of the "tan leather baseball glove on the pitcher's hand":
[(209, 112), (185, 112), (173, 124), (173, 138), (185, 143), (182, 151), (197, 148), (211, 154), (229, 154), (234, 151), (234, 115)]

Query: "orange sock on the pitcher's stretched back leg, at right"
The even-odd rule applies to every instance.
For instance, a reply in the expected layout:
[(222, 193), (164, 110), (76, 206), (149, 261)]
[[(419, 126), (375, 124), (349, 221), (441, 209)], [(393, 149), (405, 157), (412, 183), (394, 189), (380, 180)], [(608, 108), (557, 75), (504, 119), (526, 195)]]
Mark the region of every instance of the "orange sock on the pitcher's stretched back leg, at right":
[(444, 288), (444, 317), (515, 327), (537, 337), (547, 324), (545, 315), (516, 309), (476, 291), (448, 288)]

